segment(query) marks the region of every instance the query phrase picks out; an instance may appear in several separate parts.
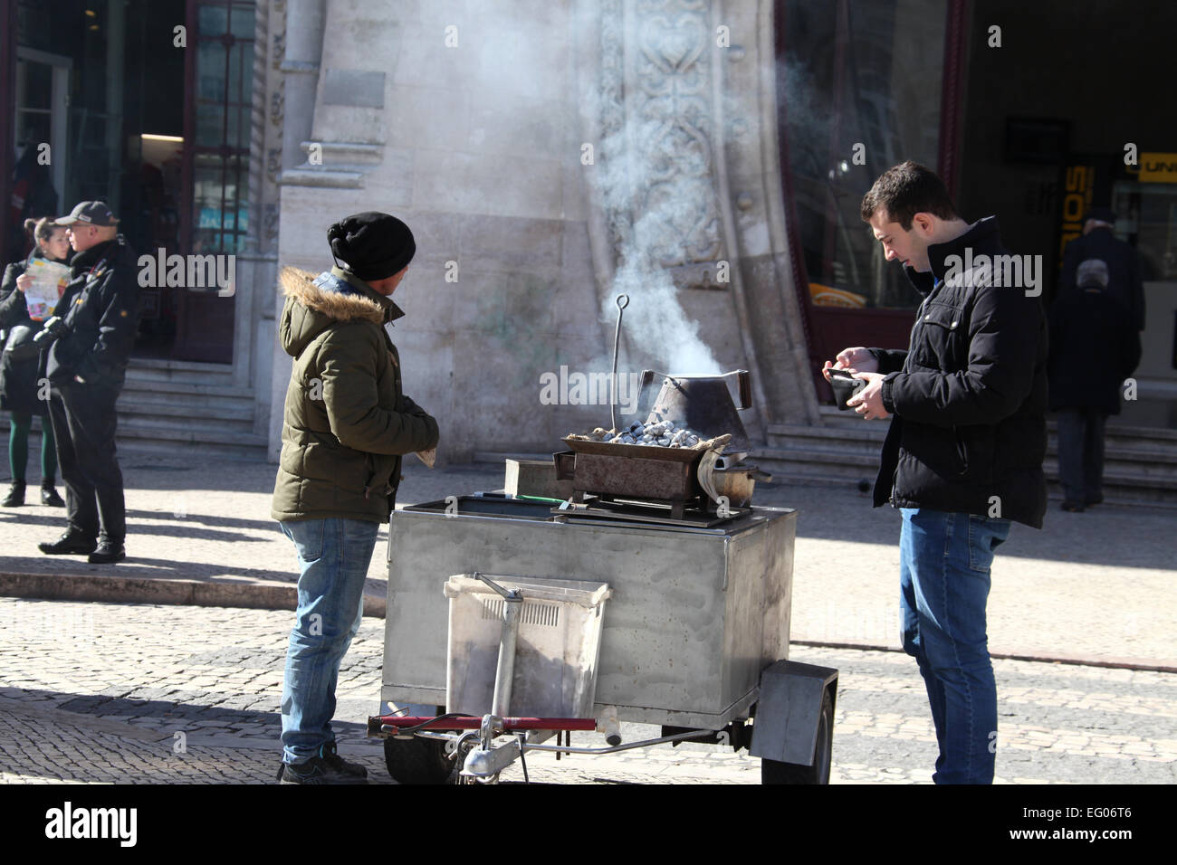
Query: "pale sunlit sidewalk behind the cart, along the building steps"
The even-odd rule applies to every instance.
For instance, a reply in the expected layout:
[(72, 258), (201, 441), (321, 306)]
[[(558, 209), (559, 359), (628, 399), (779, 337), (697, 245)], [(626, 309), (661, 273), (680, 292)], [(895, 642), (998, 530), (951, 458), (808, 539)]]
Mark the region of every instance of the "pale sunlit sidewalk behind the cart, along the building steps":
[[(79, 557), (42, 555), (36, 543), (60, 533), (62, 510), (0, 508), (0, 579), (4, 573), (112, 574), (153, 585), (198, 580), (221, 592), (245, 593), (295, 581), (293, 550), (270, 517), (273, 466), (238, 463), (208, 471), (134, 454), (124, 457), (122, 465), (129, 525), (125, 563), (99, 566)], [(438, 500), (501, 485), (501, 467), (430, 471), (411, 463), (399, 501)], [(792, 638), (898, 648), (896, 512), (871, 508), (850, 484), (757, 485), (756, 501), (800, 511)], [(1177, 668), (1173, 514), (1124, 506), (1078, 514), (1052, 510), (1042, 532), (1015, 526), (993, 563), (991, 650)], [(367, 587), (379, 599), (387, 585), (386, 547), (387, 530), (381, 528)], [(220, 597), (212, 603), (237, 601)]]

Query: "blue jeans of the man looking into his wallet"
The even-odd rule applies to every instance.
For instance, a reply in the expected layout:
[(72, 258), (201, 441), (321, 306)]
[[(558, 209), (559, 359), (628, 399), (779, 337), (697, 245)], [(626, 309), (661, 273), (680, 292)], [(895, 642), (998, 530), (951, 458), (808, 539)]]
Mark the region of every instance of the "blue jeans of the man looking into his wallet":
[(899, 535), (903, 648), (919, 664), (940, 756), (937, 784), (992, 784), (997, 684), (985, 603), (1008, 519), (904, 507)]

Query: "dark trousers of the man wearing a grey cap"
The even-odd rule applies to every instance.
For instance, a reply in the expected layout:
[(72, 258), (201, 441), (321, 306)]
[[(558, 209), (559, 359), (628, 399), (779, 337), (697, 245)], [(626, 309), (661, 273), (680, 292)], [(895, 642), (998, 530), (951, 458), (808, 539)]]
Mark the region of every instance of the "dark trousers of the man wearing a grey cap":
[(49, 392), (69, 531), (111, 544), (122, 544), (127, 534), (122, 472), (114, 455), (118, 398), (118, 391), (94, 385), (54, 385)]

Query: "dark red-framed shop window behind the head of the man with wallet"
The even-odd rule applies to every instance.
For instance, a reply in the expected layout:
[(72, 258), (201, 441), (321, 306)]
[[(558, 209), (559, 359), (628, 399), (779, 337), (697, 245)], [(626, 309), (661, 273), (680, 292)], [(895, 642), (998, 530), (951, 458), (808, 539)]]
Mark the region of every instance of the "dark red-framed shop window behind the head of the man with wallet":
[(936, 168), (946, 8), (943, 0), (778, 4), (778, 97), (814, 306), (910, 310), (919, 301), (859, 206), (897, 162)]

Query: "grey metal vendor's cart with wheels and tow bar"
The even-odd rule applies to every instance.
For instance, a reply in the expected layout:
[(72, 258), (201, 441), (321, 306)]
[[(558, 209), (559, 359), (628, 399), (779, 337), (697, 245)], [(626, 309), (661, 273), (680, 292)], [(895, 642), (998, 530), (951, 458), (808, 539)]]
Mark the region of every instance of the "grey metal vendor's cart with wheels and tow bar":
[[(385, 738), (388, 770), (407, 783), (440, 783), (454, 770), (467, 783), (494, 780), (532, 750), (683, 740), (746, 747), (765, 783), (826, 783), (838, 671), (789, 660), (796, 520), (770, 507), (698, 525), (616, 520), (496, 494), (395, 512), (384, 705), (368, 734)], [(483, 651), (477, 661), (454, 648), (452, 605), (477, 590), (472, 580), (485, 584), (479, 608), (501, 638), (493, 658)], [(598, 605), (597, 644), (579, 667), (520, 636), (559, 618), (545, 605), (561, 591)], [(480, 692), (468, 686), (476, 667)], [(450, 699), (479, 705), (447, 705), (447, 687)], [(619, 721), (664, 734), (623, 743)], [(609, 747), (572, 747), (571, 730), (605, 732)]]

